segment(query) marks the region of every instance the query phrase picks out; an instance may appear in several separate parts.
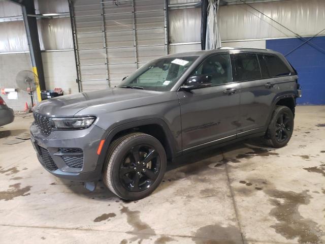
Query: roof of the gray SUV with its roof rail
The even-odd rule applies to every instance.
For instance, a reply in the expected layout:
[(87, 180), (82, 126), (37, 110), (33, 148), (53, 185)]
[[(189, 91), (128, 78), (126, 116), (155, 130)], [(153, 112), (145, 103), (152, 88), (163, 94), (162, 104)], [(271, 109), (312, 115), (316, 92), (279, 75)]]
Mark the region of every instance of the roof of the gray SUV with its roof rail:
[(270, 49), (258, 49), (258, 48), (234, 48), (234, 47), (221, 47), (214, 50), (200, 50), (200, 51), (192, 51), (192, 52), (182, 52), (167, 55), (168, 57), (179, 57), (179, 56), (202, 56), (208, 55), (211, 53), (218, 52), (262, 52), (262, 53), (273, 53), (276, 54), (278, 52), (270, 50)]

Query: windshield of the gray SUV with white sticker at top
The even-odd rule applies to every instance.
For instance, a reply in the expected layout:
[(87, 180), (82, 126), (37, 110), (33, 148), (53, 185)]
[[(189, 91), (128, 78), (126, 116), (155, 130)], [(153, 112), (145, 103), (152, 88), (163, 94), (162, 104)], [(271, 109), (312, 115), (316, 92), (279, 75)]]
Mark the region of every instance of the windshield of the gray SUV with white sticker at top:
[(197, 58), (198, 56), (188, 56), (153, 60), (123, 80), (117, 87), (159, 92), (170, 90)]

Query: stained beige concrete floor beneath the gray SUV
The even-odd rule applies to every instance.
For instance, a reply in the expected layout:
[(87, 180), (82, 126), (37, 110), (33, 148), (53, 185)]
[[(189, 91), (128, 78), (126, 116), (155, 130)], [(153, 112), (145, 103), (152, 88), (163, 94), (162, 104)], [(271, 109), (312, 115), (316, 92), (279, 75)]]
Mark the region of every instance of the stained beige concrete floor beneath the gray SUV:
[(29, 140), (3, 144), (31, 121), (0, 128), (0, 243), (325, 242), (325, 107), (298, 107), (284, 148), (249, 140), (188, 156), (135, 202), (52, 176)]

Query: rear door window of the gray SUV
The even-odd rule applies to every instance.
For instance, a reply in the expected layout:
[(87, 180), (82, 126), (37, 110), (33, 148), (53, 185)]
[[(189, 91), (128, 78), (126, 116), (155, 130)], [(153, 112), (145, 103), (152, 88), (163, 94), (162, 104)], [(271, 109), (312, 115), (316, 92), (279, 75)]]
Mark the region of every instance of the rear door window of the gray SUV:
[(234, 55), (237, 81), (261, 78), (256, 54), (239, 53)]

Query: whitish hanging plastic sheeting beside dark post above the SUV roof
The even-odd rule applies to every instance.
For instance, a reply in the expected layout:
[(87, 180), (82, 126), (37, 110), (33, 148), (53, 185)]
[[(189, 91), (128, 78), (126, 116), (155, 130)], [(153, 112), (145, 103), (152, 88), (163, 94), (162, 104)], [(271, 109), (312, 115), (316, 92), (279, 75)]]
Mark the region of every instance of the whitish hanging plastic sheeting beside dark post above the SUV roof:
[(221, 38), (219, 33), (219, 23), (217, 20), (219, 1), (208, 0), (208, 17), (207, 17), (207, 34), (206, 34), (206, 50), (221, 47)]

